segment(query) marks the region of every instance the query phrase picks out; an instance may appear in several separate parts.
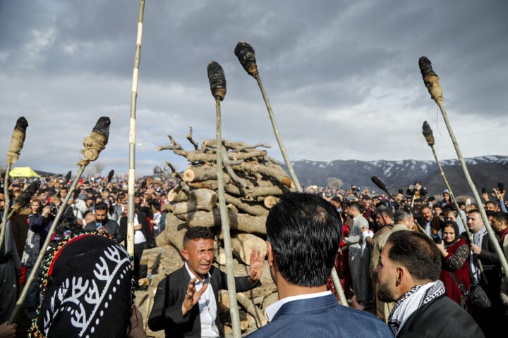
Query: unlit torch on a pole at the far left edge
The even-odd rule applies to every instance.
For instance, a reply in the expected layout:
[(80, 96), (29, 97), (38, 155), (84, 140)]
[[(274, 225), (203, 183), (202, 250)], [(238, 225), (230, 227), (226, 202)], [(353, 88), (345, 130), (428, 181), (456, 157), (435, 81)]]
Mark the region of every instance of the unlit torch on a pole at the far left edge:
[[(25, 142), (25, 132), (26, 127), (28, 127), (27, 120), (22, 116), (18, 118), (16, 121), (16, 126), (14, 127), (13, 135), (11, 138), (11, 144), (9, 145), (9, 149), (7, 151), (7, 168), (4, 178), (4, 215), (2, 216), (1, 230), (0, 230), (0, 248), (4, 243), (4, 237), (7, 227), (7, 214), (9, 213), (8, 209), (11, 206), (11, 199), (8, 196), (8, 178), (9, 172), (11, 171), (11, 165), (16, 163), (19, 158), (19, 154), (21, 149), (23, 149), (23, 143)], [(9, 215), (9, 217), (11, 217)]]

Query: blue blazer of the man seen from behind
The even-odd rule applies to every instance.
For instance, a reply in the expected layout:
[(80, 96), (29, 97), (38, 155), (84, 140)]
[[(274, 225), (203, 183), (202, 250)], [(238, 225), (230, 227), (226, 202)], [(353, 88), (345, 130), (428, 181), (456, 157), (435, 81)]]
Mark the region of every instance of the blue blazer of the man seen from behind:
[(341, 306), (335, 296), (329, 294), (285, 303), (270, 323), (247, 337), (393, 338), (393, 334), (375, 315)]

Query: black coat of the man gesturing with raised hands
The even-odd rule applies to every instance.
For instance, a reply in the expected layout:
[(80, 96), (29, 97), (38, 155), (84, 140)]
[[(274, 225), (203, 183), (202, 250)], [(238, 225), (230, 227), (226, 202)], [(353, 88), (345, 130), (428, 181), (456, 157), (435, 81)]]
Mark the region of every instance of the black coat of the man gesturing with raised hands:
[[(210, 284), (214, 292), (218, 311), (219, 289), (227, 289), (226, 274), (213, 265), (210, 268), (210, 274), (212, 275)], [(199, 304), (196, 303), (186, 315), (182, 315), (181, 311), (183, 299), (185, 298), (190, 281), (191, 276), (189, 276), (186, 267), (183, 266), (159, 282), (152, 312), (150, 312), (148, 319), (150, 330), (164, 330), (166, 337), (201, 337)], [(248, 277), (235, 277), (236, 292), (246, 292), (260, 285), (261, 283), (258, 282), (258, 284), (253, 286), (248, 282)], [(219, 315), (215, 318), (215, 325), (217, 325), (220, 337), (224, 337), (224, 330), (220, 324)]]

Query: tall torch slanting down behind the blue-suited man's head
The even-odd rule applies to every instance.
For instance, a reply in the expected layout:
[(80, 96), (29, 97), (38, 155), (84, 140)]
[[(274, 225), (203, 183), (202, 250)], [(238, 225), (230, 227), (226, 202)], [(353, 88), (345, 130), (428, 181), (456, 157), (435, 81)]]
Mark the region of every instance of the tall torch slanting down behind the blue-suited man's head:
[[(293, 180), (296, 191), (302, 192), (302, 187), (300, 182), (298, 181), (298, 177), (296, 177), (296, 173), (294, 172), (293, 165), (291, 165), (291, 161), (289, 161), (289, 157), (286, 152), (286, 147), (284, 143), (282, 143), (282, 138), (280, 136), (279, 127), (277, 127), (277, 123), (275, 122), (275, 116), (272, 111), (272, 106), (270, 105), (270, 101), (268, 101), (268, 96), (265, 92), (265, 87), (262, 84), (261, 78), (259, 76), (258, 65), (255, 60), (255, 51), (250, 44), (247, 42), (238, 42), (236, 44), (236, 48), (234, 50), (238, 61), (240, 61), (243, 68), (246, 72), (255, 78), (256, 82), (258, 82), (258, 86), (261, 90), (262, 98), (265, 100), (265, 105), (267, 107), (268, 115), (270, 116), (270, 121), (272, 122), (272, 127), (274, 130), (275, 138), (277, 139), (277, 143), (279, 144), (279, 149), (282, 153), (282, 158), (284, 158), (284, 163), (286, 164), (286, 168), (289, 172), (289, 176), (291, 176), (291, 180)], [(344, 290), (342, 289), (342, 285), (339, 282), (339, 275), (337, 275), (337, 270), (335, 267), (332, 268), (332, 281), (334, 283), (335, 289), (337, 290), (337, 294), (339, 294), (339, 300), (341, 305), (348, 306), (346, 295), (344, 294)]]

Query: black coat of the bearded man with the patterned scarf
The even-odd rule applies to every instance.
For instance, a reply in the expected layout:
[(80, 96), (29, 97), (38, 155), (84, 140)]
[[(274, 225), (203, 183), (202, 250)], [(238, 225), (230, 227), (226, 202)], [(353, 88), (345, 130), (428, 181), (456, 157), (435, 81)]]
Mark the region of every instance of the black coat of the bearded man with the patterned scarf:
[(464, 308), (442, 295), (413, 312), (397, 334), (399, 337), (483, 338), (485, 335)]

